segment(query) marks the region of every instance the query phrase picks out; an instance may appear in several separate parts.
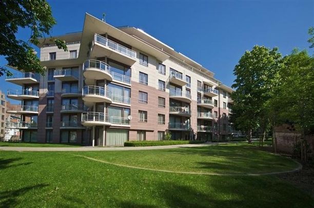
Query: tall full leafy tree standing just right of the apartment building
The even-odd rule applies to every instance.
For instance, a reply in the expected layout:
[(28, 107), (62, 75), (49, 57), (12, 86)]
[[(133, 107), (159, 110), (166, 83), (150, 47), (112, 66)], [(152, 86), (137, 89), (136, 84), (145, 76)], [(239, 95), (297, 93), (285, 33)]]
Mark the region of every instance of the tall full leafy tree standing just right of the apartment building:
[[(282, 67), (278, 48), (270, 50), (264, 46), (254, 46), (251, 51), (246, 51), (234, 67), (237, 78), (232, 85), (235, 91), (231, 94), (234, 101), (231, 118), (235, 128), (247, 133), (249, 143), (254, 129), (267, 127), (267, 101)], [(265, 130), (263, 133), (265, 137)]]

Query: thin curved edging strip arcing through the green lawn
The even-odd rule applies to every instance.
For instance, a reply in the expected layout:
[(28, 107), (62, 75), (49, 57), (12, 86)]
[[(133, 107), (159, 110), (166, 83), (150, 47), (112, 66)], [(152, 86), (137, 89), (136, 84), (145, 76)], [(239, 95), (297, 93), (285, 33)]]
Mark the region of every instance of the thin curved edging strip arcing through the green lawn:
[(91, 157), (87, 157), (87, 156), (82, 156), (82, 155), (72, 155), (75, 157), (82, 157), (82, 158), (86, 158), (89, 160), (93, 160), (96, 162), (101, 162), (101, 163), (106, 163), (106, 164), (110, 164), (110, 165), (116, 165), (116, 166), (120, 166), (120, 167), (128, 167), (128, 168), (134, 168), (134, 169), (143, 169), (146, 171), (157, 171), (157, 172), (165, 172), (165, 173), (178, 173), (178, 174), (193, 174), (193, 175), (210, 175), (210, 176), (267, 176), (267, 175), (277, 175), (277, 174), (286, 174), (286, 173), (293, 173), (293, 172), (299, 172), (302, 169), (302, 164), (295, 161), (298, 164), (298, 167), (295, 169), (292, 169), (290, 171), (281, 171), (281, 172), (270, 172), (270, 173), (261, 173), (261, 174), (254, 174), (254, 173), (247, 173), (247, 174), (218, 174), (218, 173), (200, 173), (200, 172), (185, 172), (185, 171), (168, 171), (168, 170), (164, 170), (164, 169), (153, 169), (153, 168), (146, 168), (146, 167), (136, 167), (136, 166), (130, 166), (130, 165), (123, 165), (123, 164), (116, 164), (116, 163), (112, 163), (112, 162), (107, 162), (104, 160), (99, 160), (99, 159), (95, 159), (95, 158), (91, 158)]

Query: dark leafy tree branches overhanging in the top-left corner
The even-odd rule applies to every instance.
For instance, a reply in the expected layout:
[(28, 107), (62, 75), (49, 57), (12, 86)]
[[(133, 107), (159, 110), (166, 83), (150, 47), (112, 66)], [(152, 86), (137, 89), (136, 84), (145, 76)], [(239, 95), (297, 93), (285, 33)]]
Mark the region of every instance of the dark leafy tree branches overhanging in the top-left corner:
[[(0, 55), (6, 57), (8, 65), (26, 72), (44, 74), (33, 45), (39, 44), (39, 39), (50, 35), (50, 30), (56, 24), (51, 8), (45, 0), (3, 0), (0, 1)], [(15, 34), (21, 28), (30, 30), (28, 41), (17, 40)], [(51, 38), (51, 37), (50, 37)], [(51, 39), (59, 49), (67, 50), (64, 41)], [(10, 71), (0, 67), (0, 76)]]

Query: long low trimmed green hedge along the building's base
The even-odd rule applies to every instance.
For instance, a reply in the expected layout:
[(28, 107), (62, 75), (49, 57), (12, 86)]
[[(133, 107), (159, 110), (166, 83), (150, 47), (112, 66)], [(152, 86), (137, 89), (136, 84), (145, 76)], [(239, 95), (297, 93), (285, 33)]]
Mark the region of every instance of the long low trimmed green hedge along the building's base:
[(199, 140), (163, 140), (163, 141), (131, 141), (124, 142), (124, 146), (162, 146), (162, 145), (176, 145), (176, 144), (200, 144), (205, 141)]

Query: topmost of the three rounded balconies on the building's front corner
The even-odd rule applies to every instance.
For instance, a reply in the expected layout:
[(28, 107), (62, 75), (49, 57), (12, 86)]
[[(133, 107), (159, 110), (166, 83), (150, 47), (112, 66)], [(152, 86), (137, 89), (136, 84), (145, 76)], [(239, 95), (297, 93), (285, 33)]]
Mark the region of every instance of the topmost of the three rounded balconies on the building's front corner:
[(112, 81), (110, 66), (99, 60), (87, 60), (84, 63), (83, 75), (89, 80)]

